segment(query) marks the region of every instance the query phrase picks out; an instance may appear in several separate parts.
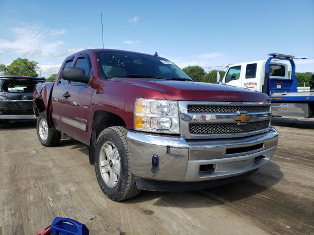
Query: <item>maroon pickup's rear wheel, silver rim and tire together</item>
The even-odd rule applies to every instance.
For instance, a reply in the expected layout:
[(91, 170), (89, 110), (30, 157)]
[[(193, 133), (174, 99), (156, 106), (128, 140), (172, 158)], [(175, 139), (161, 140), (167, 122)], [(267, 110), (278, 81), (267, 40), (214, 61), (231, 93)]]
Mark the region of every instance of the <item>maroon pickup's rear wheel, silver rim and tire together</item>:
[(49, 127), (46, 112), (39, 114), (37, 118), (37, 136), (42, 145), (55, 146), (60, 142), (61, 132), (54, 126)]

